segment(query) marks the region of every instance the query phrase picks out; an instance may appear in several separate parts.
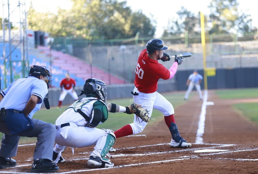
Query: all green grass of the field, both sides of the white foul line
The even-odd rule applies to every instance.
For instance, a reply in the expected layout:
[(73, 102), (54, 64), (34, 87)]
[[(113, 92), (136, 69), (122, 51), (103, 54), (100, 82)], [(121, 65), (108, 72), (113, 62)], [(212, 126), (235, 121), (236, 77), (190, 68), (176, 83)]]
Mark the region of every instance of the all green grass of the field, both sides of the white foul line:
[[(240, 98), (257, 98), (258, 97), (258, 88), (251, 89), (231, 89), (231, 90), (217, 90), (215, 93), (221, 99), (240, 99)], [(162, 94), (169, 102), (172, 103), (174, 109), (186, 101), (184, 99), (184, 93), (182, 92), (173, 92), (173, 93), (165, 93)], [(193, 94), (190, 94), (192, 97)], [(116, 100), (108, 100), (109, 103), (116, 103), (121, 106), (128, 106), (132, 102), (132, 98), (126, 99), (116, 99)], [(58, 111), (56, 107), (52, 107), (47, 110), (42, 108), (37, 111), (33, 116), (34, 119), (40, 119), (45, 122), (50, 122), (52, 124), (55, 123), (56, 118), (66, 109), (68, 106), (62, 106), (62, 111)], [(243, 104), (235, 104), (232, 106), (237, 112), (242, 113), (247, 119), (256, 122), (258, 125), (258, 107), (257, 103), (243, 103)], [(125, 113), (109, 113), (108, 120), (103, 124), (99, 125), (98, 128), (105, 128), (111, 130), (118, 130), (122, 126), (127, 125), (133, 122), (133, 114), (125, 114)], [(155, 122), (163, 120), (162, 114), (158, 110), (153, 110), (151, 121), (148, 123), (148, 126), (154, 124)], [(155, 122), (154, 122), (155, 121)], [(0, 138), (2, 139), (3, 134), (0, 133)], [(19, 144), (27, 144), (27, 143), (35, 143), (36, 138), (28, 138), (21, 137)]]

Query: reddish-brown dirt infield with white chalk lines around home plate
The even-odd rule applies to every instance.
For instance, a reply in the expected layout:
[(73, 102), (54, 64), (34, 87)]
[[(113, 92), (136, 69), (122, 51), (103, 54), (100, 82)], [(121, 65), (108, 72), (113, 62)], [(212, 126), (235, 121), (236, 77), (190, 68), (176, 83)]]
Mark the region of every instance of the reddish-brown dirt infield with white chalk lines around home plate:
[[(110, 153), (113, 168), (87, 168), (93, 147), (74, 149), (74, 155), (67, 148), (63, 153), (66, 161), (55, 173), (258, 173), (258, 127), (231, 109), (237, 102), (258, 99), (220, 100), (214, 91), (208, 91), (207, 102), (196, 95), (176, 108), (176, 124), (181, 136), (192, 143), (191, 148), (170, 148), (171, 134), (162, 121), (147, 126), (138, 136), (118, 138), (116, 152)], [(201, 115), (205, 119), (203, 134)], [(29, 173), (34, 148), (20, 146), (14, 157), (17, 167), (0, 173)]]

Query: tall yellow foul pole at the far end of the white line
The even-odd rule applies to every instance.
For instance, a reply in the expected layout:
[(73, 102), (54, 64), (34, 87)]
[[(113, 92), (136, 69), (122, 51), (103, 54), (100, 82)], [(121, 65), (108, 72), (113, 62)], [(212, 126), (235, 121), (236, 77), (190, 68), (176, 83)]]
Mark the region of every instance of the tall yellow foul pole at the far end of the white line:
[(205, 28), (204, 28), (204, 15), (200, 12), (201, 17), (201, 39), (203, 47), (203, 74), (204, 74), (204, 89), (207, 90), (207, 74), (206, 74), (206, 48), (205, 48)]

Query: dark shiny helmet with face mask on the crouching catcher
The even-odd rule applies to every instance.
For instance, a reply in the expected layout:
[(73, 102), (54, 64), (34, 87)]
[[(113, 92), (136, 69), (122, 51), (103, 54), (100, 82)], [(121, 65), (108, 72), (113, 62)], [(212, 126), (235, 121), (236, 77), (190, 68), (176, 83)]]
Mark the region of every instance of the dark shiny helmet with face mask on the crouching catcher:
[(87, 79), (80, 95), (82, 94), (85, 94), (86, 97), (94, 97), (97, 95), (99, 99), (106, 103), (107, 85), (100, 79)]

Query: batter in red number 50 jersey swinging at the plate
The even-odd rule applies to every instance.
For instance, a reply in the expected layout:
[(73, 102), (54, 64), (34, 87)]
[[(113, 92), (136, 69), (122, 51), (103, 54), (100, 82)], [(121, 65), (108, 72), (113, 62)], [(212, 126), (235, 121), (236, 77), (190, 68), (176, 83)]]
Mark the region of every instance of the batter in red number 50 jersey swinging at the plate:
[[(191, 147), (191, 143), (187, 143), (178, 131), (174, 119), (174, 108), (172, 104), (157, 92), (157, 82), (159, 79), (171, 79), (177, 70), (177, 66), (182, 63), (183, 57), (175, 56), (175, 61), (171, 68), (167, 69), (158, 60), (168, 61), (169, 55), (163, 52), (168, 49), (160, 39), (151, 39), (146, 44), (146, 49), (142, 50), (138, 57), (138, 63), (135, 69), (135, 88), (133, 93), (134, 102), (142, 105), (149, 111), (151, 117), (152, 110), (157, 109), (163, 115), (165, 123), (172, 135), (169, 143), (170, 147)], [(146, 122), (139, 122), (135, 115), (134, 122), (123, 126), (115, 131), (116, 138), (128, 136), (131, 134), (141, 133)]]

